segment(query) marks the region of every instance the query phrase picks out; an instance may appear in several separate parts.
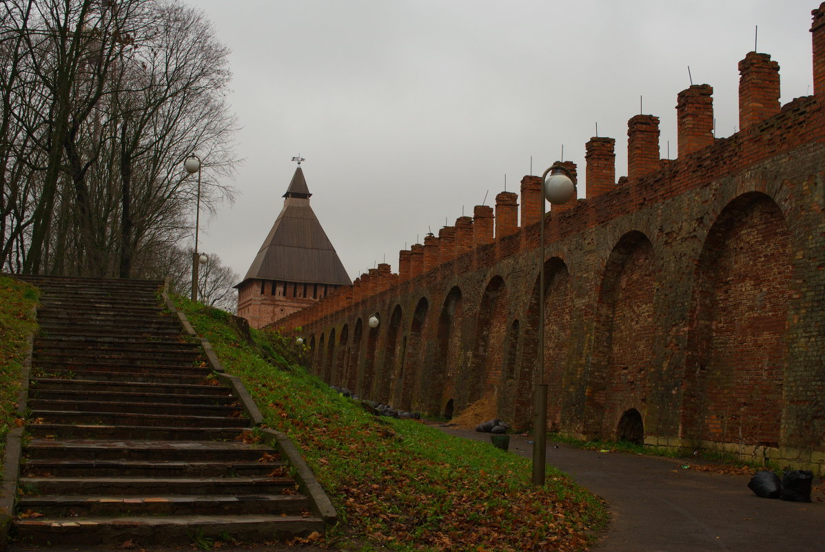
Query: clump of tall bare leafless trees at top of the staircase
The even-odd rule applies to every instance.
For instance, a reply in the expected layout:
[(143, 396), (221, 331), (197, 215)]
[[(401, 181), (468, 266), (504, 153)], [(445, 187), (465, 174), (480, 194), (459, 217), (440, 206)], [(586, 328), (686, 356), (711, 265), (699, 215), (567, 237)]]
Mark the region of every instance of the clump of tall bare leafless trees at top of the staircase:
[(228, 50), (177, 0), (6, 0), (0, 7), (0, 267), (143, 276), (191, 233), (237, 163)]

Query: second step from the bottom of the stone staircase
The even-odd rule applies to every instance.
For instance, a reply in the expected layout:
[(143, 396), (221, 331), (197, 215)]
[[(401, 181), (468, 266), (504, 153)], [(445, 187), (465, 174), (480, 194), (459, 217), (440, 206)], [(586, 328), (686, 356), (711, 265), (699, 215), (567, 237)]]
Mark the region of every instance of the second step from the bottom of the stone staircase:
[(23, 497), (21, 511), (31, 510), (50, 518), (143, 517), (143, 516), (238, 516), (293, 515), (309, 512), (309, 499), (303, 495), (172, 495), (160, 496), (83, 496), (48, 495)]

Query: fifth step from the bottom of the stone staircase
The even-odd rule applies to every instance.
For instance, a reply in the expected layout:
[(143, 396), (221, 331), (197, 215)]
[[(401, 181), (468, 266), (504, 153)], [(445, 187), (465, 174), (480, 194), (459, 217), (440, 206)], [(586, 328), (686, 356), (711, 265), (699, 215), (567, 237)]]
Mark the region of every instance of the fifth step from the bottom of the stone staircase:
[(281, 456), (268, 446), (240, 441), (106, 441), (31, 439), (24, 449), (32, 460), (166, 460), (257, 462), (276, 465)]

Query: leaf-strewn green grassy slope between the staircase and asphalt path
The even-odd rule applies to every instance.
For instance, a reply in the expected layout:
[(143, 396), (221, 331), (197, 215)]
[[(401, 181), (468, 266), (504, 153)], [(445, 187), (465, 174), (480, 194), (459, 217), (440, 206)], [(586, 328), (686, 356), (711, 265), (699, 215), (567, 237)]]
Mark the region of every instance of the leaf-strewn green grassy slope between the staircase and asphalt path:
[[(332, 497), (342, 523), (328, 539), (361, 550), (582, 550), (604, 526), (604, 504), (561, 472), (530, 485), (530, 462), (413, 420), (375, 418), (285, 360), (293, 343), (229, 314), (177, 299), (224, 367), (287, 433)], [(270, 362), (265, 360), (267, 357)]]

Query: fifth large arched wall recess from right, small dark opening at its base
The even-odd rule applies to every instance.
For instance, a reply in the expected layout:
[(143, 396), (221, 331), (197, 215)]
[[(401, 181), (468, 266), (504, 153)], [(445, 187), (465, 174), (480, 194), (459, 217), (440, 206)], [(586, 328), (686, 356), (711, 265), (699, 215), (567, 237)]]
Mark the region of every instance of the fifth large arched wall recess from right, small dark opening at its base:
[(461, 290), (454, 286), (444, 300), (441, 315), (438, 317), (436, 333), (437, 347), (429, 372), (430, 397), (427, 400), (427, 413), (444, 414), (449, 399), (450, 418), (453, 413), (453, 394), (455, 393), (455, 375), (459, 373), (461, 358), (461, 316), (464, 306)]

